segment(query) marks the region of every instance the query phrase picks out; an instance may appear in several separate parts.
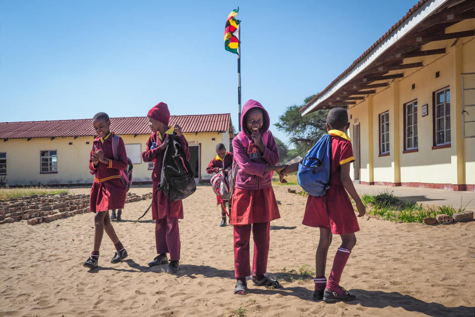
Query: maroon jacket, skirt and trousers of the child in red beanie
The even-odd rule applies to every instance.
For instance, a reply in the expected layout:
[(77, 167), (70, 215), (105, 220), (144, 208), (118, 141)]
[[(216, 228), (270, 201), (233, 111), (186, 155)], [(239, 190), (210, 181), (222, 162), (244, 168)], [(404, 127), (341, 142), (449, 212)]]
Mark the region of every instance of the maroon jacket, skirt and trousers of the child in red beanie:
[[(172, 131), (172, 128), (167, 132)], [(145, 162), (155, 160), (152, 171), (153, 198), (152, 198), (152, 219), (155, 220), (155, 246), (157, 254), (170, 253), (170, 261), (180, 260), (180, 229), (178, 219), (183, 219), (182, 201), (169, 201), (162, 191), (156, 192), (162, 173), (163, 157), (165, 151), (159, 147), (163, 143), (166, 134), (161, 137), (160, 132), (153, 133), (147, 141), (147, 148), (142, 152), (142, 159)], [(150, 150), (152, 142), (157, 148)], [(178, 142), (185, 152), (186, 159), (190, 160), (190, 150), (185, 136), (178, 137)], [(156, 192), (156, 193), (155, 193)]]

